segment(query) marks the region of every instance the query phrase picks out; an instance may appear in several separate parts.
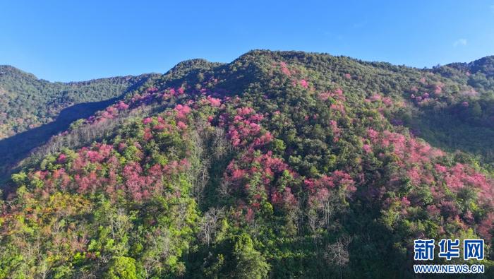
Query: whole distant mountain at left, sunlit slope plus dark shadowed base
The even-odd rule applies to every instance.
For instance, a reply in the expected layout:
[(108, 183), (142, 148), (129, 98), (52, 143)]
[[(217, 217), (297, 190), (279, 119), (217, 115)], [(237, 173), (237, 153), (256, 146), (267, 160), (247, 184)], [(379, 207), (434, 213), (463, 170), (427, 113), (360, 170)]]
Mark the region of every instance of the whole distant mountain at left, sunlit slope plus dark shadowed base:
[(16, 163), (71, 122), (87, 118), (157, 74), (51, 83), (0, 66), (0, 182)]

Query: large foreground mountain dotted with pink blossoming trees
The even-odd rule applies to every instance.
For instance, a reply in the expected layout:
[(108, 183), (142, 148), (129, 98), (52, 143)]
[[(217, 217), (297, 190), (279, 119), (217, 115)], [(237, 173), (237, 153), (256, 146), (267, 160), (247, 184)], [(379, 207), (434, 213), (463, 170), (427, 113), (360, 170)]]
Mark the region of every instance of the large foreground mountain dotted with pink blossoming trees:
[(0, 278), (416, 278), (428, 238), (485, 239), (491, 278), (479, 61), (184, 61), (23, 158), (0, 204)]

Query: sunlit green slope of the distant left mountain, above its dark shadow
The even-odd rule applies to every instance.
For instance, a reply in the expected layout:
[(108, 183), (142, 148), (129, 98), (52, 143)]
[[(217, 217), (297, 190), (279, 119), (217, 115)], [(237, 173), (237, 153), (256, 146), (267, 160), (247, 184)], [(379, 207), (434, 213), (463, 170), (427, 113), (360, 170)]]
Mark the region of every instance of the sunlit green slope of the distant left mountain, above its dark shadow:
[(0, 65), (0, 139), (47, 124), (61, 109), (119, 97), (152, 75), (51, 83)]

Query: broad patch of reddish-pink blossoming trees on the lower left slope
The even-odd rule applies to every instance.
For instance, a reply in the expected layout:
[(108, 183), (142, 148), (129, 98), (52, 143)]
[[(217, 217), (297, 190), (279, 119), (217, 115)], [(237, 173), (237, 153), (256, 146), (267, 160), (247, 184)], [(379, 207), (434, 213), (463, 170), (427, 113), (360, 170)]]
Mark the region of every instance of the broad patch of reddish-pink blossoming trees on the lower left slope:
[[(140, 154), (138, 143), (135, 143)], [(44, 187), (35, 189), (35, 193), (49, 198), (54, 191), (76, 191), (78, 194), (95, 194), (104, 192), (110, 197), (119, 192), (126, 194), (133, 201), (142, 201), (163, 190), (163, 177), (170, 177), (190, 167), (186, 159), (171, 161), (167, 165), (152, 165), (143, 170), (140, 162), (127, 162), (122, 165), (116, 153), (125, 152), (126, 145), (119, 147), (97, 143), (92, 148), (81, 148), (76, 158), (66, 162), (66, 155), (61, 153), (57, 160), (63, 167), (52, 171), (38, 171), (29, 174), (31, 178), (41, 179)], [(140, 160), (144, 158), (141, 156)], [(92, 164), (88, 168), (88, 164)]]

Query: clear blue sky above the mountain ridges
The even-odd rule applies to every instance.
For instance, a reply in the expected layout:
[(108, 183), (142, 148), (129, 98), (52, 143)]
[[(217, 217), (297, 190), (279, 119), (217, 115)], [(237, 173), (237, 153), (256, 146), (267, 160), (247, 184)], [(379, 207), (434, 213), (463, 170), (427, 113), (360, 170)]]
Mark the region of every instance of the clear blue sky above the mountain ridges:
[(0, 0), (0, 64), (83, 81), (250, 49), (420, 68), (494, 54), (494, 0), (165, 2)]

